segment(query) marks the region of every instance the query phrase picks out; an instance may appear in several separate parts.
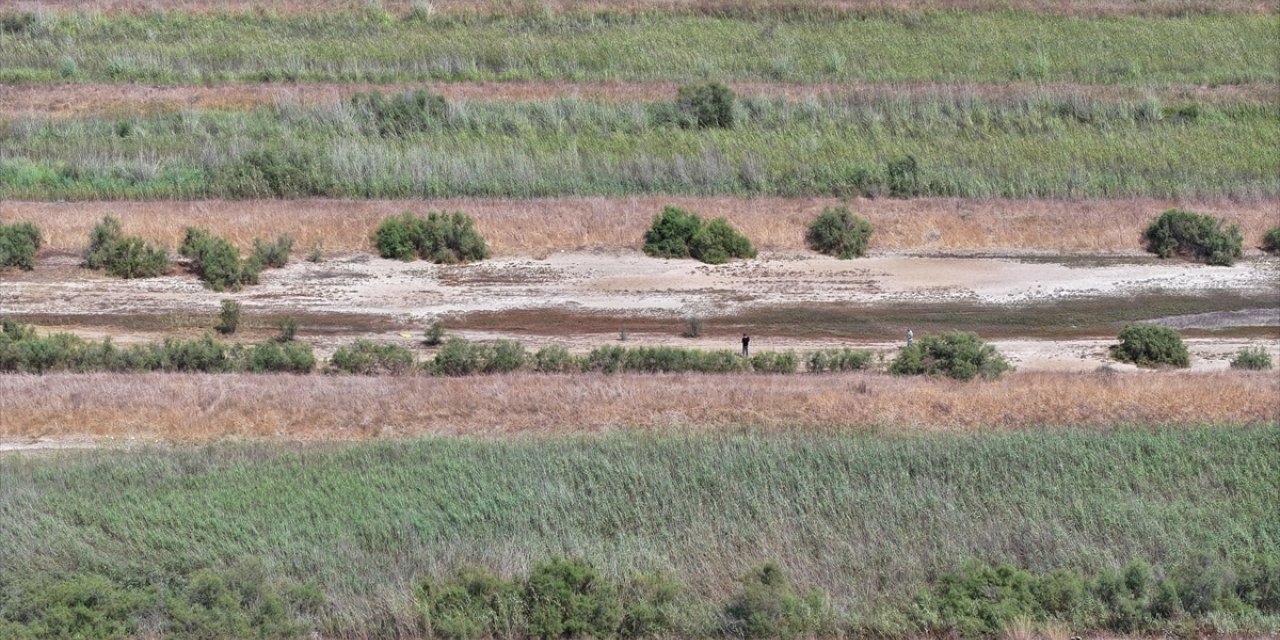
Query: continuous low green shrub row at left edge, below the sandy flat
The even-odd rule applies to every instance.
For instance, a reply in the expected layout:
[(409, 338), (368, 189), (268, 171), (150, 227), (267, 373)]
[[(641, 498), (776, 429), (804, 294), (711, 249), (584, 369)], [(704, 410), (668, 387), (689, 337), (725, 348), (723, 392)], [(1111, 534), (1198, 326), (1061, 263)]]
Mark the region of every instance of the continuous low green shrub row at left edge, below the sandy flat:
[(67, 333), (38, 337), (31, 326), (9, 317), (0, 320), (0, 371), (5, 372), (306, 374), (315, 366), (311, 347), (293, 340), (229, 344), (206, 334), (195, 339), (165, 338), (161, 342), (116, 347), (110, 338), (96, 342)]

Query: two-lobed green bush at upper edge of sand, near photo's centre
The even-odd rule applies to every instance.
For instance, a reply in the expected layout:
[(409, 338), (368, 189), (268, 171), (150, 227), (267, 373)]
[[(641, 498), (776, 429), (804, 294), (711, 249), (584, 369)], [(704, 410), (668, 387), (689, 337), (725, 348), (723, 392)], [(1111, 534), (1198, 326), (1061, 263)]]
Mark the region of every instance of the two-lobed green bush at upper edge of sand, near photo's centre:
[(673, 206), (654, 216), (644, 234), (644, 252), (654, 257), (692, 257), (713, 265), (755, 257), (751, 241), (728, 220), (717, 218), (704, 224), (696, 214)]

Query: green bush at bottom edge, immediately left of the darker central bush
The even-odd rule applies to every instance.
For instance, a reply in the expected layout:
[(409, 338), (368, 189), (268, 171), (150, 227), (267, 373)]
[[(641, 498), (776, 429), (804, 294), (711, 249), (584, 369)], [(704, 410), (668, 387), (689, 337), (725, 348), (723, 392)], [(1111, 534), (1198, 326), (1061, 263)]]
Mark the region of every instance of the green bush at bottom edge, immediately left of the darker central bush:
[(443, 637), (517, 637), (525, 627), (521, 588), (481, 567), (461, 570), (449, 581), (428, 580), (419, 603), (428, 630)]

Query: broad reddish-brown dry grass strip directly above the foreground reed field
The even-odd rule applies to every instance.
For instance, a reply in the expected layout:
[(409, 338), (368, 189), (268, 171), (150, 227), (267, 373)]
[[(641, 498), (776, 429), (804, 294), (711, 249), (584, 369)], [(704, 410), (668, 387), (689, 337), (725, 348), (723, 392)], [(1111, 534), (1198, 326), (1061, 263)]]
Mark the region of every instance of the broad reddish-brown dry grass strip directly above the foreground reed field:
[(995, 381), (855, 375), (3, 375), (6, 442), (110, 436), (366, 439), (616, 429), (1263, 424), (1272, 374), (1011, 374)]

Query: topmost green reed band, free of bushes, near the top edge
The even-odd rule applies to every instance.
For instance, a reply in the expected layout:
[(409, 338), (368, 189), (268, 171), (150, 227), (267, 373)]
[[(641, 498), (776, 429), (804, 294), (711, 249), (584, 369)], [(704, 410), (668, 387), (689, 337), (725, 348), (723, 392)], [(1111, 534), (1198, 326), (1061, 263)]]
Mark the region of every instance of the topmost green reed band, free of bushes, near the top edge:
[(0, 82), (1275, 82), (1270, 15), (1082, 19), (925, 12), (397, 18), (38, 14), (0, 31)]

